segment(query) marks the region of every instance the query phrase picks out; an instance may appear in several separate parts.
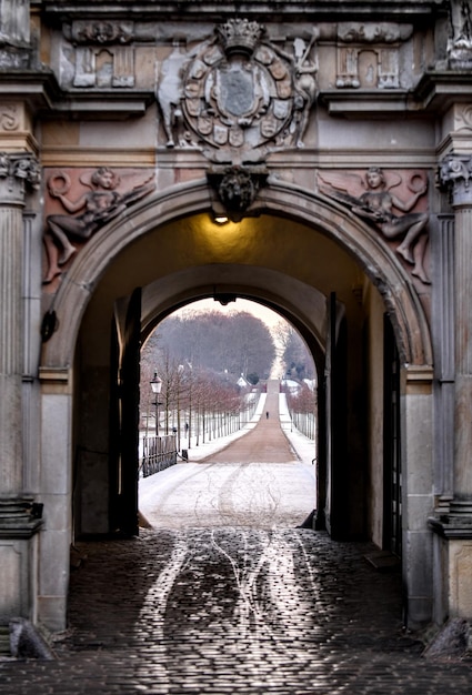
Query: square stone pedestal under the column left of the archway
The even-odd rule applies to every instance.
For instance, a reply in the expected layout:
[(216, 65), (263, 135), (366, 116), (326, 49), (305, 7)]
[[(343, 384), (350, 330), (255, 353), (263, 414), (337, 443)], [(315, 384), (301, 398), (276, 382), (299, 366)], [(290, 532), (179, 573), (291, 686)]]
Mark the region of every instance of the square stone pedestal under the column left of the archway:
[(12, 617), (36, 620), (41, 513), (32, 497), (0, 498), (0, 624)]

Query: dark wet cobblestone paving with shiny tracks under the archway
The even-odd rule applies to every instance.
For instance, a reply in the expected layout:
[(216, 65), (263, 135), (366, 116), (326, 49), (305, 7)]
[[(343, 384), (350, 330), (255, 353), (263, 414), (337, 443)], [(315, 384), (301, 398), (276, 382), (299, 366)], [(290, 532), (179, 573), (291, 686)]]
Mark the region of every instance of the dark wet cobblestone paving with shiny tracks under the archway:
[(443, 695), (468, 661), (430, 662), (401, 623), (401, 577), (323, 533), (145, 530), (88, 543), (52, 662), (0, 662), (0, 693)]

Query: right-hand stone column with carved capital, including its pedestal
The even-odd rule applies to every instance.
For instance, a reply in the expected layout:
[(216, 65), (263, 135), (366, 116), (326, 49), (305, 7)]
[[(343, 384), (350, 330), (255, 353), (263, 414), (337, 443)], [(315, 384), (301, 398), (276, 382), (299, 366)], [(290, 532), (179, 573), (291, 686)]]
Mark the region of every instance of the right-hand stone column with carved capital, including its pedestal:
[(454, 461), (452, 500), (431, 526), (436, 532), (436, 615), (472, 618), (472, 157), (450, 154), (440, 183), (454, 210)]

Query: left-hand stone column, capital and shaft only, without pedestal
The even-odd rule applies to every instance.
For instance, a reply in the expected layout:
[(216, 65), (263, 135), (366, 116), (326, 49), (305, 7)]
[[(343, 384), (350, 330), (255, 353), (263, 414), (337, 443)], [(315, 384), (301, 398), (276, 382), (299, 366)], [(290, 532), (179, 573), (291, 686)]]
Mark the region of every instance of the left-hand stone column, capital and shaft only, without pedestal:
[(27, 187), (39, 183), (36, 159), (0, 153), (0, 473), (3, 495), (23, 486), (21, 389), (23, 208)]

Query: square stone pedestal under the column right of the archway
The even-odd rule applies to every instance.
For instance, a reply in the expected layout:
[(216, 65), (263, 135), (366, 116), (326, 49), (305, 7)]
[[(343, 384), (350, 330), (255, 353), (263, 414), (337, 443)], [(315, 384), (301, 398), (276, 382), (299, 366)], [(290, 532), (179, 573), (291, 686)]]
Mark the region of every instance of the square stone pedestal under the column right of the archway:
[(472, 500), (452, 500), (449, 513), (429, 525), (436, 534), (436, 620), (472, 620)]

